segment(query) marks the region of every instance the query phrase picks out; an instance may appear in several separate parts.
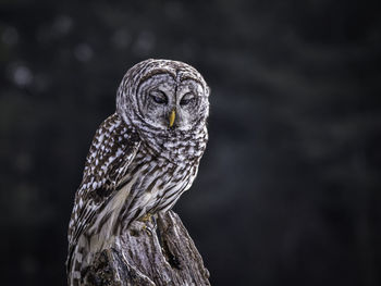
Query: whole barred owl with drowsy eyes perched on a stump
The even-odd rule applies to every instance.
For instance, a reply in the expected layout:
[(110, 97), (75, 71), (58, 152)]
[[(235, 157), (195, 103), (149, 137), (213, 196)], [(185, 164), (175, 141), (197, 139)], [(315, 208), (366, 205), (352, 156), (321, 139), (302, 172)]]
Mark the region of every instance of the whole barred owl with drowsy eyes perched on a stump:
[(69, 285), (133, 221), (170, 210), (206, 148), (209, 87), (192, 66), (146, 60), (127, 71), (96, 132), (69, 225)]

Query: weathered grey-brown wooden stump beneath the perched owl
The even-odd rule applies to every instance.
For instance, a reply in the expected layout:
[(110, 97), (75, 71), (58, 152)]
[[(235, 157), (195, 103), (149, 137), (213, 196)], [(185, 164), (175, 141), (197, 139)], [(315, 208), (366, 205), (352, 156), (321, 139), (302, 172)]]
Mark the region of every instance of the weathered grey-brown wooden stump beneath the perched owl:
[(209, 272), (179, 215), (169, 211), (153, 221), (133, 223), (120, 244), (97, 253), (84, 285), (210, 285)]

